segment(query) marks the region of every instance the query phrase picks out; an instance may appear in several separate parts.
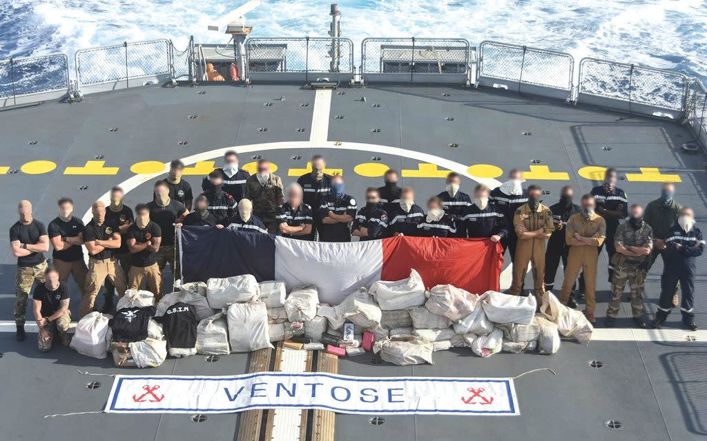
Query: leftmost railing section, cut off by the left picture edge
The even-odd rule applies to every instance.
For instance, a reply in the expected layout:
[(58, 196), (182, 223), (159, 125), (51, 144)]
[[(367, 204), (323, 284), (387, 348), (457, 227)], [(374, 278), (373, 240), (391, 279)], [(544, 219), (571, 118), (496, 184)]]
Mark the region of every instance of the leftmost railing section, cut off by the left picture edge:
[(69, 94), (65, 54), (0, 61), (0, 108), (60, 99)]

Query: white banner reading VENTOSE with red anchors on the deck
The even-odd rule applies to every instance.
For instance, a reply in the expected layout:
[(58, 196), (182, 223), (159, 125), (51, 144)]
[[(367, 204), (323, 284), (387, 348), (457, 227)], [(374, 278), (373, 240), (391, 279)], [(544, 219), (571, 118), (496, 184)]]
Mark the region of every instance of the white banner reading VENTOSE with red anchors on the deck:
[(108, 413), (235, 413), (247, 409), (520, 415), (510, 378), (350, 377), (326, 373), (116, 375), (105, 406)]

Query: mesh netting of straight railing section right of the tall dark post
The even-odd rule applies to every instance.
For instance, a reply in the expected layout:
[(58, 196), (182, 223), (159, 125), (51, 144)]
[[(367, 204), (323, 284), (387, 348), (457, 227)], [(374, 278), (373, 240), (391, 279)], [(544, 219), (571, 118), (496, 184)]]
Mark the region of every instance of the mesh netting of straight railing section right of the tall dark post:
[(465, 74), (469, 42), (460, 38), (366, 38), (361, 73)]

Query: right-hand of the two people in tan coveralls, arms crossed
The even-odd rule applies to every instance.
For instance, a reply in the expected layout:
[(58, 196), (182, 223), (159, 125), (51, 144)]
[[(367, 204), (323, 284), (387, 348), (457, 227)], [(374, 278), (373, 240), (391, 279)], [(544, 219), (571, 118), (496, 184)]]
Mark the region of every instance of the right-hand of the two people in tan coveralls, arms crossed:
[(584, 272), (585, 303), (587, 318), (595, 323), (594, 308), (597, 304), (597, 260), (599, 247), (607, 237), (607, 222), (594, 210), (597, 203), (593, 195), (582, 196), (582, 211), (572, 215), (567, 222), (565, 241), (570, 247), (565, 268), (565, 279), (562, 282), (560, 301), (566, 305), (570, 298), (572, 285), (580, 270)]

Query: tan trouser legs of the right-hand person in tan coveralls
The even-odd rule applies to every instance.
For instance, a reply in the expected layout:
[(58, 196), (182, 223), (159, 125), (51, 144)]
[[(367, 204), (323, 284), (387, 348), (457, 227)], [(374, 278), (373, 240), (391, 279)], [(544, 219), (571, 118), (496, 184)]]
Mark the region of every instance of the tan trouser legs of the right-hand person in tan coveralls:
[(565, 268), (565, 278), (562, 281), (560, 291), (560, 301), (566, 305), (570, 299), (572, 286), (579, 275), (580, 270), (584, 273), (585, 282), (585, 303), (588, 314), (593, 314), (597, 306), (597, 260), (599, 260), (599, 248), (592, 245), (571, 246), (567, 256), (567, 267)]

